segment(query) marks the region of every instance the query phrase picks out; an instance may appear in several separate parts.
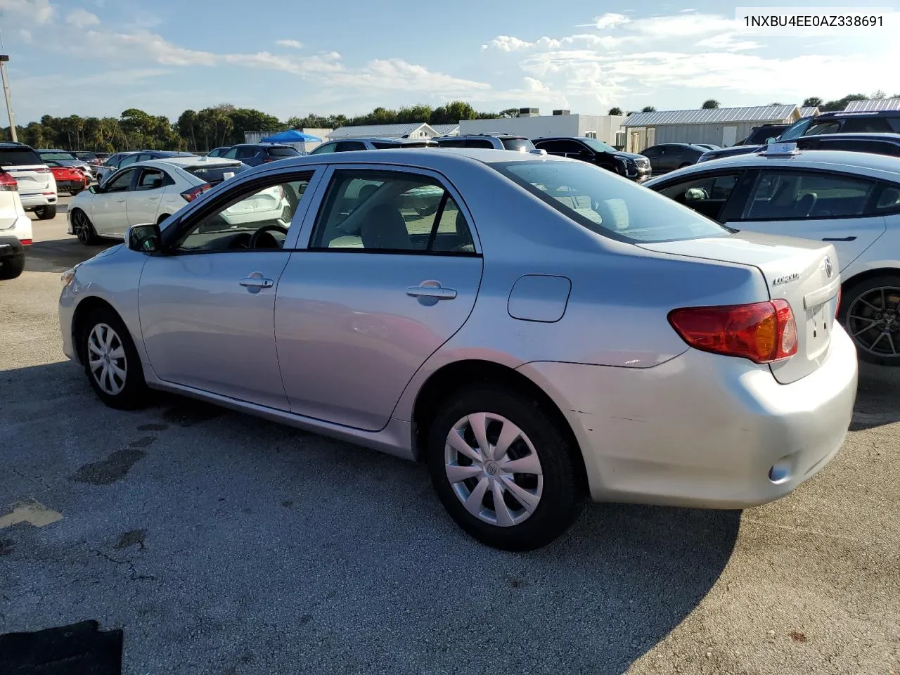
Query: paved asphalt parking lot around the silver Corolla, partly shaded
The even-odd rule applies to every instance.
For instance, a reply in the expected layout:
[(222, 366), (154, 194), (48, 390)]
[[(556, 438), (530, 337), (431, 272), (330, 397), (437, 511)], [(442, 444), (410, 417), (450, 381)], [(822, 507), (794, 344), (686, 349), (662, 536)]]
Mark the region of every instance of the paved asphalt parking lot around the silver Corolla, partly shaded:
[(0, 282), (0, 633), (96, 619), (134, 674), (900, 671), (900, 374), (863, 368), (841, 454), (787, 499), (594, 505), (500, 553), (423, 467), (169, 395), (103, 407), (60, 351), (59, 273), (93, 255), (64, 220)]

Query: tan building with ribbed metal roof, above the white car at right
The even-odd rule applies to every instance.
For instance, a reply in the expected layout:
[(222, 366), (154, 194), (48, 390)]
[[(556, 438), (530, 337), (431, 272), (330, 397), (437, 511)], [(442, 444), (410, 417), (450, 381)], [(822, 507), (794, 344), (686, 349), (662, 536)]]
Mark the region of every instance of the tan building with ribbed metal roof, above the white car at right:
[(800, 119), (797, 105), (748, 108), (635, 112), (623, 122), (626, 150), (640, 152), (658, 143), (714, 143), (724, 148), (746, 138), (761, 124), (784, 124)]

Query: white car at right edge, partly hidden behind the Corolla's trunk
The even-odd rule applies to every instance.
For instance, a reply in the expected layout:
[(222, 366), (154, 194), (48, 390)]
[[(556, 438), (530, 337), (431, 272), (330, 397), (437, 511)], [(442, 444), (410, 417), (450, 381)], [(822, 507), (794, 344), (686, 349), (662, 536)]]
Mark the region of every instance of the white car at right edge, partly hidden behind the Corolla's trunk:
[(900, 365), (900, 157), (775, 144), (646, 186), (735, 229), (832, 243), (839, 319), (860, 358)]

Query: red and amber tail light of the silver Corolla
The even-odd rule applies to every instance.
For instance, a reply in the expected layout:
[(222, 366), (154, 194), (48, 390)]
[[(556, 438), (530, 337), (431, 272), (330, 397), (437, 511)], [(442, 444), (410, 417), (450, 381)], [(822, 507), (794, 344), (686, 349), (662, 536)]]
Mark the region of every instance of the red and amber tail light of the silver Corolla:
[(669, 323), (691, 347), (770, 364), (797, 354), (797, 321), (788, 301), (669, 312)]

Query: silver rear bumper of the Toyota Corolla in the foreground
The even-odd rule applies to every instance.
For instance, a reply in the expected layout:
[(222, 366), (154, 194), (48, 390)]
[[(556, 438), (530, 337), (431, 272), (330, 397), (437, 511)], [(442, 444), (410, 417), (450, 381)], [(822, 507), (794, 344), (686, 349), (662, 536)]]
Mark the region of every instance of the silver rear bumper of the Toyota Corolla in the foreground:
[[(837, 454), (856, 400), (851, 338), (795, 383), (689, 349), (653, 368), (535, 363), (578, 437), (594, 500), (743, 509), (777, 500)], [(770, 467), (788, 467), (779, 482)]]

